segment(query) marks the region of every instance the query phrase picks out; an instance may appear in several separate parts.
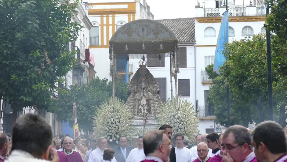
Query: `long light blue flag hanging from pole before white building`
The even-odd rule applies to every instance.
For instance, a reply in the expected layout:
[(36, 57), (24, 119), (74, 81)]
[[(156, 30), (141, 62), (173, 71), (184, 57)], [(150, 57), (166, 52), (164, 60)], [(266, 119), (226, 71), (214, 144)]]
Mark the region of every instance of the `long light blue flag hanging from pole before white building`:
[(217, 74), (220, 74), (219, 67), (222, 66), (224, 61), (226, 60), (223, 55), (225, 43), (228, 43), (228, 10), (225, 11), (222, 15), (219, 35), (216, 44), (213, 71), (215, 71)]

